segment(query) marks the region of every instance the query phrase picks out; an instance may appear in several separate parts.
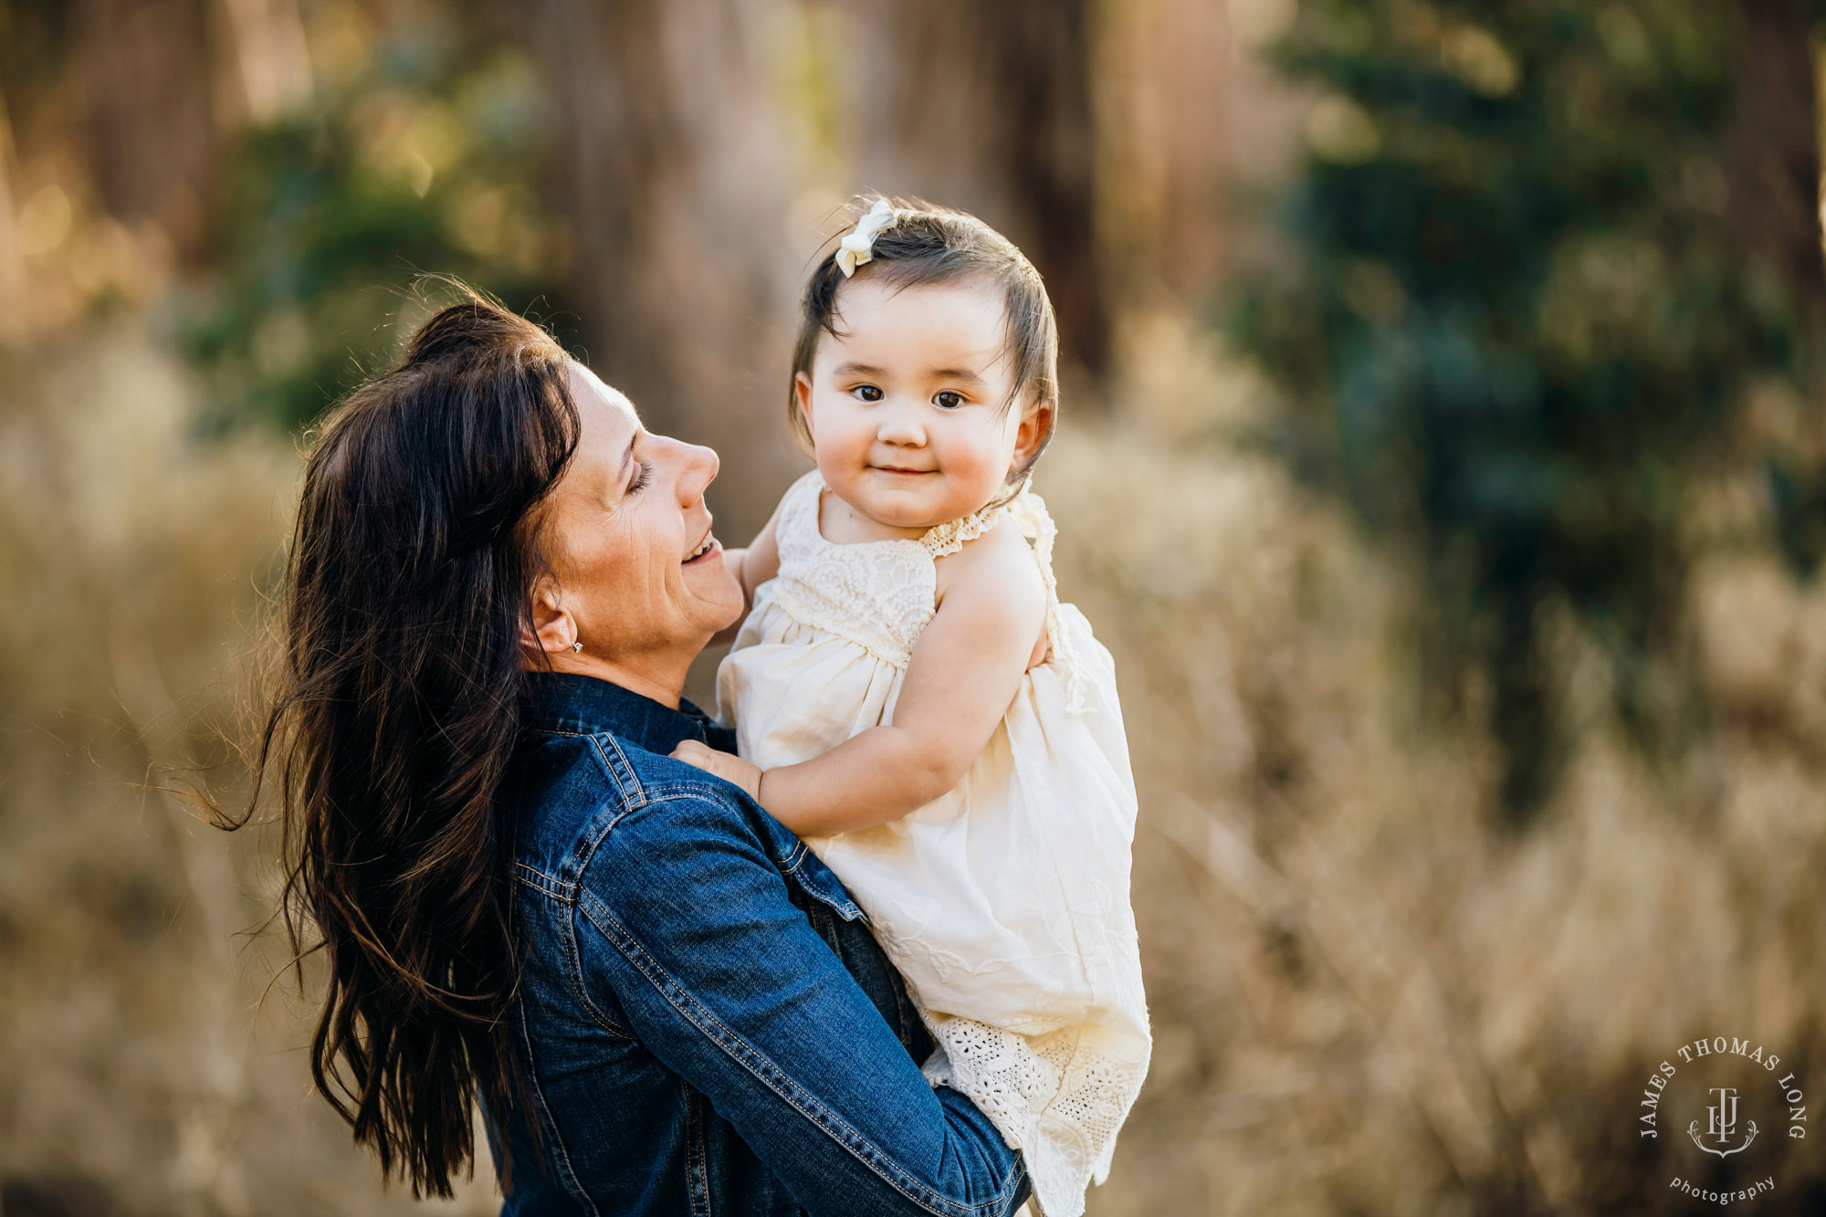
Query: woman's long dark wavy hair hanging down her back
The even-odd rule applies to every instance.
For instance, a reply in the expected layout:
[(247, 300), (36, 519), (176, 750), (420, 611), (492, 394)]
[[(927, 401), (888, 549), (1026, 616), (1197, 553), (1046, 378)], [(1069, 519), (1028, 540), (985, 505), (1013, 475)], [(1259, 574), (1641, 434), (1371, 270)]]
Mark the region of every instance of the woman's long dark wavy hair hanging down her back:
[[(305, 459), (256, 789), (285, 826), (285, 925), (321, 952), (318, 1091), (382, 1169), (451, 1195), (473, 1104), (517, 1106), (513, 828), (540, 504), (577, 446), (568, 358), (478, 298), (334, 409)], [(276, 789), (274, 789), (276, 788)]]

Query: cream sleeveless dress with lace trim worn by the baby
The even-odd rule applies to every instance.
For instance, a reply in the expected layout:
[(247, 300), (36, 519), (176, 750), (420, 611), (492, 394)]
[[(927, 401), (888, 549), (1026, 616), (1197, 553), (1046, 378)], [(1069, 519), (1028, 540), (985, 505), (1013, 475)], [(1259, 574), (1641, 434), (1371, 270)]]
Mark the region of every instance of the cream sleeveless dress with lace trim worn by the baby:
[(1023, 1151), (1046, 1217), (1103, 1182), (1149, 1062), (1128, 906), (1136, 795), (1108, 651), (1052, 579), (1039, 495), (922, 539), (833, 545), (824, 481), (776, 523), (780, 576), (718, 672), (725, 722), (761, 767), (809, 760), (893, 720), (933, 618), (933, 561), (1006, 513), (1046, 581), (1052, 656), (1021, 682), (964, 780), (918, 811), (807, 844), (849, 886), (900, 968), (939, 1053), (926, 1076), (968, 1095)]

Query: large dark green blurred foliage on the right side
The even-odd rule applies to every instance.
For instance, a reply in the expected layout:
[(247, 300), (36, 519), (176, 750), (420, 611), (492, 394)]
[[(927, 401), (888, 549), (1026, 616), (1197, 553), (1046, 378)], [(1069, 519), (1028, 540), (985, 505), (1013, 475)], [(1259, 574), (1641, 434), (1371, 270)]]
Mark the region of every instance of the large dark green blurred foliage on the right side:
[(1448, 665), (1490, 674), (1505, 806), (1547, 789), (1537, 607), (1570, 605), (1649, 735), (1682, 495), (1753, 376), (1804, 376), (1784, 278), (1733, 243), (1735, 5), (1309, 0), (1280, 48), (1322, 90), (1234, 331), (1306, 406), (1295, 442), (1419, 554)]

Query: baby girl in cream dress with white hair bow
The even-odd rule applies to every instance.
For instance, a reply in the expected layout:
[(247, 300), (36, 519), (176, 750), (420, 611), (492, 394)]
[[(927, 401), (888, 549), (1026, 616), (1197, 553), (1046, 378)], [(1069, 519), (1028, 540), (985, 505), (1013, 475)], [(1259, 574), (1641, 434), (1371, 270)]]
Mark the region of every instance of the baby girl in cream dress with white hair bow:
[(1059, 411), (1039, 272), (960, 212), (875, 201), (813, 270), (789, 415), (818, 468), (729, 554), (718, 674), (743, 786), (849, 886), (939, 1051), (1077, 1217), (1147, 1073), (1108, 651), (1028, 490)]

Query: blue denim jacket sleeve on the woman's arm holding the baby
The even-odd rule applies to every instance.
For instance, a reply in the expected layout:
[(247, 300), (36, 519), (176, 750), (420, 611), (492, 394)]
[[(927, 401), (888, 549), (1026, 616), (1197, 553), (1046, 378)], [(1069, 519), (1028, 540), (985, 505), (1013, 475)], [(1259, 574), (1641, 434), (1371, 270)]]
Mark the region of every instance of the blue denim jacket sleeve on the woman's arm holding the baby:
[(1026, 1177), (935, 1091), (792, 906), (750, 820), (707, 793), (624, 813), (584, 866), (577, 967), (811, 1213), (1002, 1217)]

